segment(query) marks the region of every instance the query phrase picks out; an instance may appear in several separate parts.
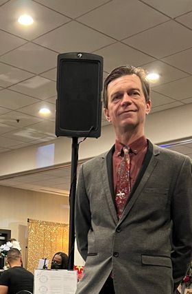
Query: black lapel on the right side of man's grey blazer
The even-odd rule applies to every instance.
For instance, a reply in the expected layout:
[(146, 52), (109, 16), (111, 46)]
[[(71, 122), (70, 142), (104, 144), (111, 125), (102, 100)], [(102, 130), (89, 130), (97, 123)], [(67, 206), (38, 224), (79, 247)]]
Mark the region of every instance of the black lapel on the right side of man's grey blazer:
[(130, 209), (132, 209), (134, 202), (139, 197), (141, 191), (143, 190), (143, 187), (145, 187), (145, 184), (146, 184), (149, 176), (151, 176), (152, 171), (154, 170), (154, 167), (156, 166), (156, 164), (158, 162), (158, 158), (157, 158), (157, 155), (159, 154), (158, 147), (156, 145), (152, 145), (152, 143), (149, 142), (149, 151), (150, 150), (152, 151), (152, 157), (149, 161), (149, 164), (147, 165), (147, 167), (145, 169), (145, 172), (144, 172), (143, 177), (141, 178), (139, 184), (134, 189), (134, 191), (132, 191), (133, 193), (130, 194), (130, 199), (128, 200), (128, 204), (126, 204), (126, 206), (125, 206), (125, 209), (124, 209), (122, 216), (119, 220), (119, 224), (128, 215), (128, 213), (130, 212)]

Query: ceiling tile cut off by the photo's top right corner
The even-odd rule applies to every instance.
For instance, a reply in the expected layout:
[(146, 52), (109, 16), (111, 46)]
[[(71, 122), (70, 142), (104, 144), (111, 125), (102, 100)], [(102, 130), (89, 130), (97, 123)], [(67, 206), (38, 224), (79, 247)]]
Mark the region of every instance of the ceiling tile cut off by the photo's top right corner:
[(192, 10), (191, 0), (143, 0), (143, 2), (174, 18)]

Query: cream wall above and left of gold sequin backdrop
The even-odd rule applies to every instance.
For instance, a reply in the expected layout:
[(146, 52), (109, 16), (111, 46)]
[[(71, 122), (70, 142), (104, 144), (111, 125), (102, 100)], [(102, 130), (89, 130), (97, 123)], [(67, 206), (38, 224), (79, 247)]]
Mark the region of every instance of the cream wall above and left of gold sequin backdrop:
[(27, 219), (69, 224), (69, 197), (0, 186), (0, 228), (11, 230), (21, 243), (23, 263), (27, 246)]

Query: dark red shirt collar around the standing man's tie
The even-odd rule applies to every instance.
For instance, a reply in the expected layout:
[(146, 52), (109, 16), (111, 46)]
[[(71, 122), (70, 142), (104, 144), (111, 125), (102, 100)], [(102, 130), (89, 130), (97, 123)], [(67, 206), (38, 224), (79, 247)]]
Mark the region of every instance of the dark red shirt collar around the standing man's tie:
[[(119, 156), (121, 155), (123, 145), (118, 140), (115, 140), (115, 155)], [(134, 154), (138, 154), (142, 149), (147, 147), (147, 139), (145, 136), (141, 136), (140, 138), (136, 139), (134, 142), (132, 142), (128, 147), (130, 147), (131, 151)]]

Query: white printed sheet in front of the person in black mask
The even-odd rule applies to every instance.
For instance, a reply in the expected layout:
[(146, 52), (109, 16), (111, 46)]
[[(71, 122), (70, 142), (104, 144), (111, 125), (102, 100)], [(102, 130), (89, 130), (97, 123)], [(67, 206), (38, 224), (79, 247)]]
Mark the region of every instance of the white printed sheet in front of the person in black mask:
[(34, 294), (75, 294), (77, 271), (40, 270), (34, 272)]

